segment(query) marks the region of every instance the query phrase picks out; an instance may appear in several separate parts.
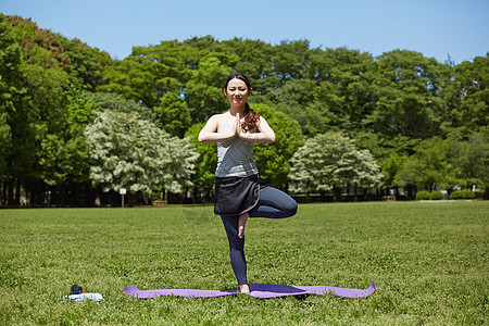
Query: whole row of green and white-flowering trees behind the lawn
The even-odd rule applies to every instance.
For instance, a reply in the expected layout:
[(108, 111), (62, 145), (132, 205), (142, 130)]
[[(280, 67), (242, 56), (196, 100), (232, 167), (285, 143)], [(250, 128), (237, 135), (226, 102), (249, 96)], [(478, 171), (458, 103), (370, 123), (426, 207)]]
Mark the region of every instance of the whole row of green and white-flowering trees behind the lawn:
[(60, 204), (92, 204), (120, 188), (211, 200), (215, 147), (197, 135), (227, 110), (233, 71), (250, 77), (250, 103), (277, 134), (255, 158), (281, 189), (488, 189), (488, 67), (489, 55), (455, 65), (406, 50), (373, 58), (212, 37), (113, 60), (0, 14), (2, 203), (40, 204), (51, 191)]

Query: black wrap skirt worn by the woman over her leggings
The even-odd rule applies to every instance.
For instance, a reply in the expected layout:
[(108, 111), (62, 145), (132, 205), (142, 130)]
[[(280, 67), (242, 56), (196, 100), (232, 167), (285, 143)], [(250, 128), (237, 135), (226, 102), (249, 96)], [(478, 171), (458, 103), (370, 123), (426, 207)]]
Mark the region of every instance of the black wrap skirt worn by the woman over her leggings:
[(260, 200), (260, 191), (268, 187), (258, 174), (247, 177), (216, 177), (214, 213), (239, 215), (251, 211)]

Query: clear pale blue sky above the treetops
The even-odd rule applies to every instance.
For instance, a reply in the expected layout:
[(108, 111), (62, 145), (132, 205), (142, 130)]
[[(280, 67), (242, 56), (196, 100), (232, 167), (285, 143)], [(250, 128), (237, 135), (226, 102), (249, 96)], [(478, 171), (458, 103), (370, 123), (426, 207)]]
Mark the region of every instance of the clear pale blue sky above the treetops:
[(0, 12), (79, 38), (112, 58), (134, 46), (211, 35), (373, 55), (394, 49), (455, 63), (489, 51), (489, 0), (0, 0)]

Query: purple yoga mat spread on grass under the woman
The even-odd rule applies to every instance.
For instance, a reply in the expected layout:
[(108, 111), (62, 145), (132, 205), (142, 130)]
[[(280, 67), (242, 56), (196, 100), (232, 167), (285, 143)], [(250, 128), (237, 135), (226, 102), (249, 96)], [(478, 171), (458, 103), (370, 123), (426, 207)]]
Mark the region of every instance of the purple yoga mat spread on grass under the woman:
[[(375, 284), (372, 283), (368, 289), (344, 289), (326, 286), (284, 286), (284, 285), (268, 285), (268, 284), (252, 284), (250, 285), (250, 296), (261, 299), (269, 299), (287, 296), (305, 296), (305, 294), (325, 294), (333, 293), (342, 298), (366, 298), (374, 293)], [(164, 289), (164, 290), (139, 290), (136, 286), (124, 288), (126, 294), (148, 299), (160, 296), (176, 296), (176, 297), (193, 297), (193, 298), (215, 298), (223, 296), (230, 296), (239, 293), (239, 290), (191, 290), (191, 289)]]

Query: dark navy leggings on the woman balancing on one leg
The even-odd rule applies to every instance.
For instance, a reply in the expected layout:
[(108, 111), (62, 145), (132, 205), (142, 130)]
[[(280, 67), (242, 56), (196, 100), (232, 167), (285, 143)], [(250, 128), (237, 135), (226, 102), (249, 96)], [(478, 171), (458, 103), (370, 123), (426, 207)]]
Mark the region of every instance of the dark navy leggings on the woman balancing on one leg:
[[(260, 191), (258, 205), (249, 212), (250, 217), (284, 218), (297, 213), (297, 202), (287, 193), (267, 187)], [(229, 255), (238, 285), (248, 284), (244, 259), (244, 237), (238, 238), (238, 215), (221, 216), (229, 241)]]

